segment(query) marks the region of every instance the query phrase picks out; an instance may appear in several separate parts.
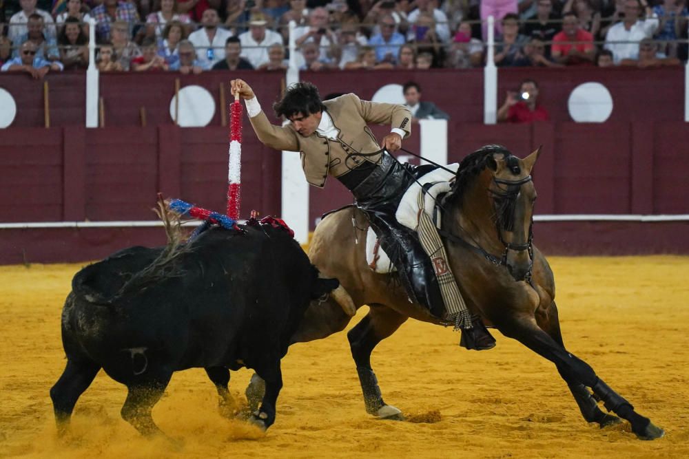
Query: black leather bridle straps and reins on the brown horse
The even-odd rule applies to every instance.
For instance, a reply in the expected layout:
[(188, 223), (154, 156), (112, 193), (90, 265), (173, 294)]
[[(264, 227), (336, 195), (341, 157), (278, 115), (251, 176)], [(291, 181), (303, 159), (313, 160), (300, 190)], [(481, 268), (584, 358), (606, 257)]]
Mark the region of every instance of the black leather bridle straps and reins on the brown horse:
[[(515, 191), (509, 192), (505, 191), (503, 193), (496, 192), (494, 190), (489, 189), (489, 193), (494, 198), (502, 198), (502, 199), (516, 199), (517, 195), (520, 193), (520, 189), (523, 184), (531, 182), (531, 175), (528, 175), (520, 180), (504, 180), (501, 178), (495, 178), (493, 177), (493, 183), (495, 183), (502, 191), (500, 188), (500, 185), (507, 185), (507, 186), (519, 186), (519, 188)], [(480, 244), (478, 244), (470, 235), (469, 233), (460, 226), (460, 229), (464, 234), (471, 239), (471, 242), (473, 244), (469, 244), (469, 242), (466, 242), (466, 240), (462, 239), (462, 237), (459, 237), (457, 235), (454, 235), (453, 233), (450, 233), (449, 231), (444, 231), (443, 229), (438, 230), (438, 234), (440, 234), (444, 239), (448, 239), (455, 244), (459, 244), (460, 246), (471, 250), (474, 253), (477, 253), (479, 255), (482, 255), (486, 260), (490, 261), (493, 265), (495, 266), (505, 266), (508, 268), (507, 264), (507, 254), (510, 250), (514, 252), (524, 252), (526, 250), (528, 252), (528, 258), (530, 260), (528, 270), (526, 271), (526, 275), (524, 275), (524, 280), (528, 282), (528, 284), (531, 284), (531, 278), (532, 278), (532, 271), (533, 271), (533, 217), (531, 218), (531, 222), (529, 223), (528, 226), (528, 238), (526, 239), (526, 242), (522, 244), (514, 244), (513, 242), (505, 242), (504, 237), (502, 237), (502, 230), (500, 228), (500, 218), (495, 219), (495, 231), (497, 232), (497, 237), (500, 239), (500, 243), (504, 246), (505, 250), (502, 253), (501, 257), (498, 257), (497, 255), (493, 255), (492, 253), (489, 253), (486, 249), (484, 249)], [(475, 245), (474, 245), (475, 244)]]

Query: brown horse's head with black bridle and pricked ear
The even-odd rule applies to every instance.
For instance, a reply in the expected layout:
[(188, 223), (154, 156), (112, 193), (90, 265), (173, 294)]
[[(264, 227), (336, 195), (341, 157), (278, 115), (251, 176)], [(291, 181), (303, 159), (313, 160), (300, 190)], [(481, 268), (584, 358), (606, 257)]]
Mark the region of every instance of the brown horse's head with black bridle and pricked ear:
[[(531, 169), (541, 149), (523, 160), (507, 152), (486, 156), (486, 169), (493, 177), (489, 195), (495, 208), (497, 237), (505, 246), (505, 263), (516, 281), (523, 281), (531, 273), (531, 223), (536, 189)], [(529, 279), (526, 279), (529, 280)]]

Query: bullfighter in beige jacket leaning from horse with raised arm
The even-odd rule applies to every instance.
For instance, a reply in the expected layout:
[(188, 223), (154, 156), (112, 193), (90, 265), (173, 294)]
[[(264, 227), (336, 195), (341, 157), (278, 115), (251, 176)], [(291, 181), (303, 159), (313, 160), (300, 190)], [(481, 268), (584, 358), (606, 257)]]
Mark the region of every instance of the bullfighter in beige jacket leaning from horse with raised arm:
[[(333, 175), (351, 191), (357, 206), (369, 218), (380, 246), (400, 273), (400, 281), (410, 299), (429, 308), (440, 319), (451, 322), (441, 295), (438, 277), (429, 255), (415, 231), (398, 222), (395, 212), (404, 192), (431, 165), (400, 164), (389, 152), (402, 147), (411, 134), (411, 114), (402, 105), (373, 103), (345, 94), (322, 101), (311, 83), (297, 83), (274, 104), (276, 116), (290, 122), (285, 127), (271, 125), (251, 87), (242, 80), (231, 82), (232, 92), (245, 100), (258, 139), (268, 147), (299, 151), (309, 184), (325, 186)], [(378, 144), (368, 123), (390, 123), (391, 132)], [(480, 317), (462, 325), (462, 345), (486, 350), (495, 339)]]

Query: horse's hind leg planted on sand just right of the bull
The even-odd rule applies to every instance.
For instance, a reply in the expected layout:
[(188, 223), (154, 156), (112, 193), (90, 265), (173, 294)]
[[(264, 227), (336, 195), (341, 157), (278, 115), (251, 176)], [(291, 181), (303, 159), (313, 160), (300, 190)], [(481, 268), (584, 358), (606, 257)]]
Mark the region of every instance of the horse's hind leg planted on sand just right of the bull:
[(382, 305), (369, 305), (371, 310), (356, 327), (349, 330), (347, 339), (351, 355), (356, 363), (361, 389), (364, 393), (364, 405), (369, 414), (379, 418), (401, 419), (399, 409), (386, 405), (383, 401), (378, 379), (371, 369), (371, 352), (380, 341), (393, 334), (407, 317)]

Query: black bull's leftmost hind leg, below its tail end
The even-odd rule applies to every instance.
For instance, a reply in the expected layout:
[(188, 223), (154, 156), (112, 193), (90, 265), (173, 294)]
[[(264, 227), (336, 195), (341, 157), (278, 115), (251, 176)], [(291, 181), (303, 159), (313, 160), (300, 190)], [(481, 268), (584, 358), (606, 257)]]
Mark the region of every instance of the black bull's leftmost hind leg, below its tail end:
[(50, 389), (57, 432), (60, 436), (65, 434), (69, 427), (76, 401), (91, 385), (99, 370), (101, 365), (92, 361), (68, 359), (65, 371)]

